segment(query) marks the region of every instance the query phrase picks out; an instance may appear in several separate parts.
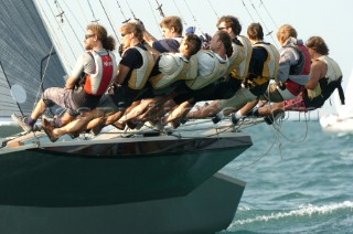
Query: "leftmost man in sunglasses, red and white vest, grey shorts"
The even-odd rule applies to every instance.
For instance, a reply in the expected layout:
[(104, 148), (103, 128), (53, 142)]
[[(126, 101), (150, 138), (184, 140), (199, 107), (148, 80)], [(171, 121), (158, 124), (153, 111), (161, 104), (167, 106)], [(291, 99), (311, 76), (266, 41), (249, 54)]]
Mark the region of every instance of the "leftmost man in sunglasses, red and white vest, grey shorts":
[(110, 82), (116, 77), (117, 63), (114, 53), (115, 40), (107, 30), (97, 23), (88, 24), (84, 39), (83, 53), (67, 78), (65, 87), (46, 88), (30, 116), (12, 118), (23, 130), (31, 130), (46, 107), (55, 104), (65, 108), (63, 117), (55, 119), (61, 127), (75, 119), (82, 111), (95, 108)]

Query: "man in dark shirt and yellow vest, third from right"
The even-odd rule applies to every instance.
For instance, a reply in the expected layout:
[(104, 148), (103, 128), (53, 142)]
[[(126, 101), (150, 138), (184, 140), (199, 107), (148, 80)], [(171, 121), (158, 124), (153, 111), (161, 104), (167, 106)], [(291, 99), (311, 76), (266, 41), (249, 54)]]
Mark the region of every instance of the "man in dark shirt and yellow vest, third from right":
[[(213, 100), (208, 106), (201, 107), (188, 115), (188, 118), (211, 117), (220, 113), (218, 118), (239, 109), (239, 116), (246, 114), (266, 92), (270, 79), (276, 78), (279, 63), (279, 52), (270, 43), (264, 42), (264, 31), (259, 23), (252, 23), (247, 35), (253, 44), (253, 53), (248, 75), (244, 86), (229, 99)], [(254, 105), (255, 103), (255, 105)], [(218, 120), (216, 120), (218, 121)]]

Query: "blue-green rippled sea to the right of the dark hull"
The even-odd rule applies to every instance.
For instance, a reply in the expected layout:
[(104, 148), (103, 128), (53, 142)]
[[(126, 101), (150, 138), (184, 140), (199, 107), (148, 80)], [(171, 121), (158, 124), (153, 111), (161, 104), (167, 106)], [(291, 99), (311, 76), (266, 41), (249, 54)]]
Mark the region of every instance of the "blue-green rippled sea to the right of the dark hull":
[(223, 172), (247, 185), (220, 233), (353, 233), (353, 136), (324, 134), (318, 121), (244, 131), (254, 146)]

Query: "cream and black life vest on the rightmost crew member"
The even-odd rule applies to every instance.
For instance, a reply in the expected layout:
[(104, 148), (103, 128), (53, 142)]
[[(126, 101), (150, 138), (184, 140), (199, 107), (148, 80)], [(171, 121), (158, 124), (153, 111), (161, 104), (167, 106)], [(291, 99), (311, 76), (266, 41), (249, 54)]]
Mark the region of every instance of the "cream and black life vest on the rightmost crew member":
[(328, 72), (323, 78), (319, 79), (318, 85), (313, 89), (304, 89), (302, 98), (306, 107), (320, 108), (335, 88), (338, 88), (341, 103), (344, 105), (344, 93), (341, 86), (342, 72), (339, 64), (327, 55), (318, 60), (328, 65)]

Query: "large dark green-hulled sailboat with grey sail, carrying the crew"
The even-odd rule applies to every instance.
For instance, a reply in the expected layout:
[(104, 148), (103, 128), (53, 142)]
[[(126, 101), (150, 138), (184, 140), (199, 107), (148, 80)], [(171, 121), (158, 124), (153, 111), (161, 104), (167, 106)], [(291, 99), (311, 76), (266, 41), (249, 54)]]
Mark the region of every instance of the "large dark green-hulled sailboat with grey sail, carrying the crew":
[[(66, 70), (40, 6), (1, 1), (1, 118), (29, 115)], [(55, 113), (57, 110), (51, 109)], [(0, 128), (2, 128), (1, 126)], [(231, 121), (158, 131), (43, 131), (1, 139), (1, 233), (213, 233), (232, 222), (245, 182), (220, 170), (253, 145)]]

